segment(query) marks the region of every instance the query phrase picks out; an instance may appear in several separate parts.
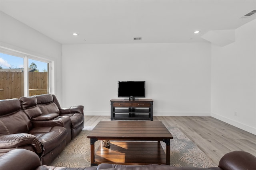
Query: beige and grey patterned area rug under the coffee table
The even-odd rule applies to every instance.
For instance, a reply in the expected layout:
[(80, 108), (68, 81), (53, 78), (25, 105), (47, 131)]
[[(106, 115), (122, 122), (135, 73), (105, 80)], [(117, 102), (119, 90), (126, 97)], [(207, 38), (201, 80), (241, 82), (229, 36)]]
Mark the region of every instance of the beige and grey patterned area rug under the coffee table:
[[(87, 134), (93, 127), (85, 127), (82, 132), (72, 139), (63, 152), (52, 162), (51, 166), (61, 167), (88, 167), (90, 166), (90, 139)], [(200, 150), (180, 129), (168, 127), (173, 139), (170, 140), (170, 164), (172, 166), (190, 166), (209, 168), (216, 164)], [(95, 150), (101, 145), (101, 141), (95, 142)], [(165, 150), (166, 145), (161, 142)]]

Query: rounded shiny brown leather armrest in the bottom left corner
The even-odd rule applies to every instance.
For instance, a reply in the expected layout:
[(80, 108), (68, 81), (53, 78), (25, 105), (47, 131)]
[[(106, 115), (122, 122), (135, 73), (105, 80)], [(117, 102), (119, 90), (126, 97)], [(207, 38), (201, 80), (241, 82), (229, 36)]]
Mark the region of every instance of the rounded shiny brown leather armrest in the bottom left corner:
[(14, 149), (0, 156), (1, 170), (34, 170), (41, 165), (39, 156), (26, 149)]

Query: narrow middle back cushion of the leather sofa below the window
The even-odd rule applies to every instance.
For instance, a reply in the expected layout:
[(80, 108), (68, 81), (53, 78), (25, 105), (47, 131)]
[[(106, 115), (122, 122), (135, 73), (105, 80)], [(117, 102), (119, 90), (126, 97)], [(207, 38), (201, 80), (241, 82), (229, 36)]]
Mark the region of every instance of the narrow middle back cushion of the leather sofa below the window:
[(37, 105), (36, 96), (21, 97), (20, 102), (22, 104), (22, 108), (24, 109), (30, 120), (34, 117), (42, 115), (42, 111)]

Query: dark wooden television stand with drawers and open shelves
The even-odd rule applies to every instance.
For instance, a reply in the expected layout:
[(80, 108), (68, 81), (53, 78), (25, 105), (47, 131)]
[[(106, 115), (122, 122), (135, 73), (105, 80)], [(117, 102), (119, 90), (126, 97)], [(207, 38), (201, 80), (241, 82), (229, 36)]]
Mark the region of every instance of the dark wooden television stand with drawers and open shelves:
[(112, 99), (111, 120), (124, 119), (147, 119), (153, 120), (153, 100), (152, 99)]

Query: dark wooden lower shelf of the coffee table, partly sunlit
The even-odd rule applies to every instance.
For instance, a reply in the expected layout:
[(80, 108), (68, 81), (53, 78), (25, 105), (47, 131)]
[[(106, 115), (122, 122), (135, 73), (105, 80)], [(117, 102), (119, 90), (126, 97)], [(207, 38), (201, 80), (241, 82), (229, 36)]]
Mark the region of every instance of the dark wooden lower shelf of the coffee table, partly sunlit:
[(166, 154), (160, 142), (111, 141), (110, 147), (100, 147), (95, 154), (95, 164), (166, 164)]

